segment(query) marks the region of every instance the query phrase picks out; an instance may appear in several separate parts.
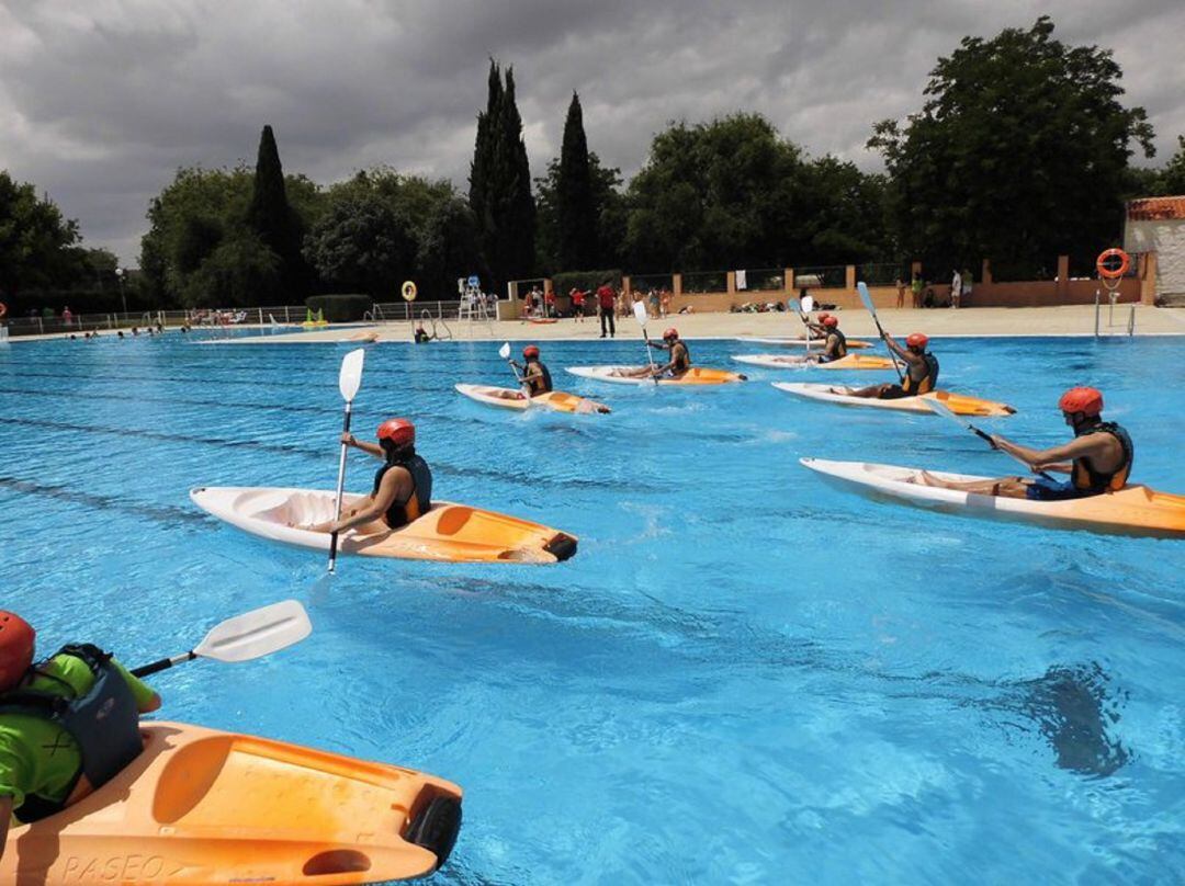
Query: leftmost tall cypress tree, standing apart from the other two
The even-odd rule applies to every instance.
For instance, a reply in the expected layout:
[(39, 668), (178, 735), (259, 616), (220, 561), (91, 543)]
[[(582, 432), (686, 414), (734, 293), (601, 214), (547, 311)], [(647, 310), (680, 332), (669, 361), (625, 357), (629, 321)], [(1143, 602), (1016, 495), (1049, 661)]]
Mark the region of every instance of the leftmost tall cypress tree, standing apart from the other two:
[(280, 259), (280, 289), (261, 293), (261, 298), (268, 301), (277, 296), (303, 297), (310, 288), (309, 270), (301, 255), (305, 231), (300, 217), (288, 204), (283, 167), (280, 165), (280, 149), (276, 147), (276, 137), (270, 126), (264, 126), (260, 136), (260, 152), (255, 163), (255, 182), (246, 222), (258, 233), (263, 244)]

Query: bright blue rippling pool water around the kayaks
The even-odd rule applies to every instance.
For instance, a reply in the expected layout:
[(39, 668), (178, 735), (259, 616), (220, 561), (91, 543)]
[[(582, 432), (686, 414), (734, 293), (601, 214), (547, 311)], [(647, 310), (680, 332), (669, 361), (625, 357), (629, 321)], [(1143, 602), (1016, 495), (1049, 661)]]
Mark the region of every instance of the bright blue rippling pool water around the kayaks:
[[(1185, 341), (948, 339), (943, 386), (1066, 434), (1106, 391), (1134, 479), (1185, 492)], [(401, 763), (466, 789), (437, 884), (1172, 882), (1185, 877), (1185, 545), (877, 503), (798, 458), (1007, 474), (930, 417), (799, 402), (750, 371), (634, 389), (565, 365), (611, 416), (518, 416), (498, 344), (370, 348), (356, 428), (419, 424), (436, 493), (581, 538), (551, 567), (321, 557), (207, 518), (198, 484), (332, 487), (335, 345), (158, 339), (0, 349), (6, 608), (43, 650), (140, 663), (286, 597), (315, 630), (155, 679), (165, 713)], [(700, 365), (762, 346), (692, 342)], [(771, 348), (767, 348), (771, 349)], [(737, 365), (732, 365), (734, 368)], [(351, 455), (347, 486), (376, 463)]]

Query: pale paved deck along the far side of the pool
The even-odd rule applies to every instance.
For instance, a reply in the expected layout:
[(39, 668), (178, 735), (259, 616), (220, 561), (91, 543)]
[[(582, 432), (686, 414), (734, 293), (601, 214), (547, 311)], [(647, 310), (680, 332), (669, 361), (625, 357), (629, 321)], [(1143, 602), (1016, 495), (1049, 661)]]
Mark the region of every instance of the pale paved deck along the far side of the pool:
[[(837, 310), (840, 328), (850, 336), (876, 335), (872, 319), (863, 310)], [(1100, 333), (1103, 335), (1126, 335), (1130, 306), (1115, 308), (1114, 326), (1108, 327), (1108, 309), (1103, 308)], [(1093, 304), (1074, 304), (1049, 308), (935, 308), (925, 310), (892, 308), (878, 312), (885, 330), (898, 336), (911, 332), (924, 332), (935, 336), (1016, 336), (1016, 335), (1093, 335), (1095, 329), (1095, 308)], [(529, 323), (521, 320), (502, 320), (492, 322), (447, 320), (448, 329), (454, 340), (469, 341), (523, 341), (526, 339), (546, 340), (582, 340), (597, 339), (601, 335), (600, 321), (585, 317), (583, 322), (559, 320), (555, 323)], [(666, 319), (652, 319), (647, 326), (651, 338), (658, 338), (667, 326), (674, 326), (686, 339), (730, 339), (737, 336), (782, 336), (799, 335), (802, 325), (792, 314), (680, 314)], [(237, 329), (267, 329), (268, 327), (239, 326)], [(194, 339), (204, 344), (224, 345), (282, 345), (282, 344), (326, 344), (341, 341), (374, 342), (410, 342), (412, 323), (401, 321), (393, 323), (376, 323), (372, 327), (327, 327), (325, 329), (300, 330), (275, 335), (257, 335), (243, 338), (211, 338), (209, 328), (194, 329)], [(431, 326), (427, 327), (429, 332)], [(437, 321), (437, 329), (446, 333)], [(1185, 310), (1180, 308), (1154, 308), (1144, 304), (1135, 306), (1136, 335), (1185, 335)], [(114, 336), (104, 332), (103, 338)], [(617, 338), (638, 338), (638, 322), (630, 317), (617, 317)], [(34, 341), (38, 339), (60, 339), (64, 334), (26, 335), (9, 341)]]

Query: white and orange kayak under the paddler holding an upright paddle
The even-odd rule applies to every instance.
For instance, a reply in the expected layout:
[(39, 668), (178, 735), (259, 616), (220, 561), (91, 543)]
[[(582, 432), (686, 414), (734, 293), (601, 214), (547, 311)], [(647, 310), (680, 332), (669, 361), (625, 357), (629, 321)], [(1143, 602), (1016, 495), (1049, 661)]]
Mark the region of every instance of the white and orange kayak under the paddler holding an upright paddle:
[[(346, 494), (342, 507), (361, 500)], [(210, 486), (190, 490), (203, 511), (260, 538), (314, 551), (329, 550), (329, 533), (297, 528), (332, 520), (328, 489)], [(293, 525), (289, 525), (293, 524)], [(494, 511), (434, 501), (418, 520), (398, 529), (376, 521), (338, 537), (339, 554), (446, 563), (557, 563), (576, 553), (575, 535)]]

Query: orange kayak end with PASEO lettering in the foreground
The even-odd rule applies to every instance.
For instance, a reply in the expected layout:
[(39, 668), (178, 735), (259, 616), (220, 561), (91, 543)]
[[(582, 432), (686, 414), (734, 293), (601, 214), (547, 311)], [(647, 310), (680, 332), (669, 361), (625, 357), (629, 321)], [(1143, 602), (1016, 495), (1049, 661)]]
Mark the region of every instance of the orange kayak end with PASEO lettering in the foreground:
[(345, 884), (427, 877), (461, 789), (384, 763), (181, 723), (65, 810), (8, 832), (4, 884)]

